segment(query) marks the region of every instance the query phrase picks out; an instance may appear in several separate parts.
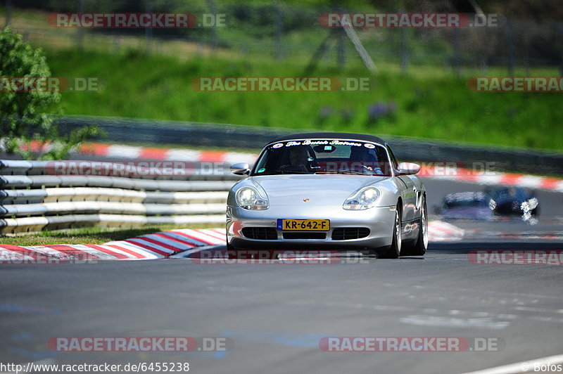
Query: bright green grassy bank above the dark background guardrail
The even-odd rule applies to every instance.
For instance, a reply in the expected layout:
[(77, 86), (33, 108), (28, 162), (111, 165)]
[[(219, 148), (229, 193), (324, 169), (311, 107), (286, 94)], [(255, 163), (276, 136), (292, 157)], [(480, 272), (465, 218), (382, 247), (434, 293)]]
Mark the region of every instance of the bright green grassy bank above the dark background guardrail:
[[(181, 61), (137, 52), (46, 54), (55, 76), (102, 81), (98, 92), (63, 93), (63, 108), (69, 115), (357, 131), (563, 150), (560, 93), (474, 93), (467, 88), (467, 78), (477, 72), (456, 78), (436, 67), (412, 67), (412, 73), (402, 74), (393, 65), (380, 65), (379, 73), (370, 77), (370, 91), (199, 92), (191, 88), (196, 77), (296, 77), (303, 75), (305, 64), (201, 56)], [(555, 73), (546, 69), (534, 75)], [(360, 63), (346, 70), (321, 66), (314, 75), (369, 77)], [(491, 69), (489, 75), (503, 74)], [(367, 110), (378, 102), (394, 103), (396, 110), (377, 123), (369, 122)], [(322, 117), (322, 108), (329, 114)]]

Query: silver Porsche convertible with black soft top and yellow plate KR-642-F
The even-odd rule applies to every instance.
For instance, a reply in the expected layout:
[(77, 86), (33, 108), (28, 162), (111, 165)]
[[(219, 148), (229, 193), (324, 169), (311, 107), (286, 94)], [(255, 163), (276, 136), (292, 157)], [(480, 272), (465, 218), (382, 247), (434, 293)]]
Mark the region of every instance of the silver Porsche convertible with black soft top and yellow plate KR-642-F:
[(428, 245), (419, 165), (398, 164), (376, 136), (310, 133), (267, 144), (227, 198), (229, 252), (355, 250), (396, 258)]

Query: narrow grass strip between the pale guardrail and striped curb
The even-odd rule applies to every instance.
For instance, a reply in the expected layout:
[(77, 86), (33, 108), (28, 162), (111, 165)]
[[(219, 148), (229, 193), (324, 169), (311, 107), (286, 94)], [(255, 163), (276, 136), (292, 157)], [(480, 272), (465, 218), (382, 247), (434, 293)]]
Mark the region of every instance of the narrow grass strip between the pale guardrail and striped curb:
[(135, 236), (156, 233), (177, 228), (215, 228), (212, 225), (188, 225), (178, 227), (172, 225), (146, 226), (142, 228), (72, 228), (61, 231), (40, 231), (25, 233), (18, 236), (0, 236), (0, 244), (8, 245), (50, 245), (50, 244), (103, 244), (112, 240), (124, 240)]

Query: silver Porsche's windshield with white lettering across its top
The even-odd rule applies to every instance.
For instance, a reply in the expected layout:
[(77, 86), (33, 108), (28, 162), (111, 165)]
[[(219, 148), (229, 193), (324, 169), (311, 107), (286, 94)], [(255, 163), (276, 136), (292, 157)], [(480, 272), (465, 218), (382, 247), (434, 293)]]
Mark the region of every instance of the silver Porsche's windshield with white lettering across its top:
[(252, 175), (359, 174), (391, 176), (384, 147), (365, 141), (307, 139), (267, 146)]

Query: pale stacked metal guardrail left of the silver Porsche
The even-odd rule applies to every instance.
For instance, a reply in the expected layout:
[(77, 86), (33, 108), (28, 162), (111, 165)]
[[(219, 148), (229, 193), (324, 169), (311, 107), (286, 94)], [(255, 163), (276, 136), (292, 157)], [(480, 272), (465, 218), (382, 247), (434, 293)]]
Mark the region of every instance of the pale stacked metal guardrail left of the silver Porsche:
[(1, 234), (94, 225), (221, 224), (227, 191), (240, 179), (233, 174), (51, 173), (49, 162), (0, 160)]

